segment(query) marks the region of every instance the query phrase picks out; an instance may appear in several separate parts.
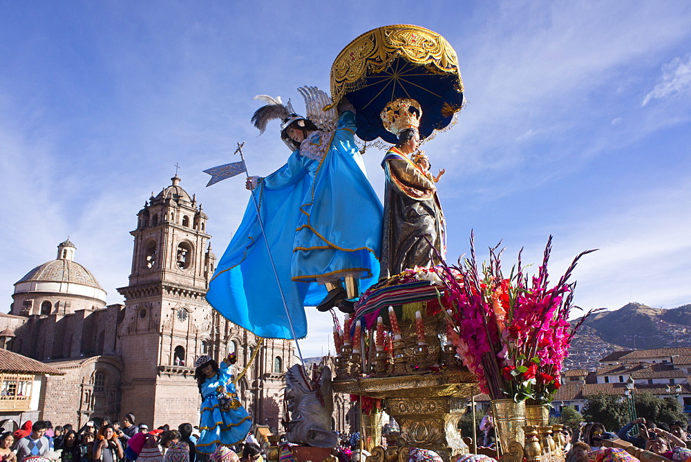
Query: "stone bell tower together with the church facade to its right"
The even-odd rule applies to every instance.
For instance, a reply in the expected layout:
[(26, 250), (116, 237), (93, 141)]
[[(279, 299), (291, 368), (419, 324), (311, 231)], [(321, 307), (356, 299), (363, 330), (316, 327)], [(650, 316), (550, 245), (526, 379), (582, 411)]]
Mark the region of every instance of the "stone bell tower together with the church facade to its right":
[[(122, 414), (153, 427), (198, 423), (194, 359), (238, 355), (238, 398), (255, 423), (278, 427), (283, 373), (294, 362), (290, 340), (265, 339), (211, 308), (205, 295), (216, 269), (207, 215), (173, 176), (137, 214), (129, 285), (118, 314), (115, 353), (122, 357)], [(257, 353), (254, 355), (254, 353)], [(254, 360), (252, 360), (254, 358)]]

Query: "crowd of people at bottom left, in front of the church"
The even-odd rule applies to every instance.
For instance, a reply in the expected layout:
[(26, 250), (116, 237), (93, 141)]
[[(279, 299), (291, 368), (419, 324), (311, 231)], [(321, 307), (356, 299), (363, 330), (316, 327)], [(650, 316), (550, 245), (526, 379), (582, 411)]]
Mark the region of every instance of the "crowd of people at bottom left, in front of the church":
[(26, 421), (15, 432), (0, 429), (0, 461), (8, 462), (263, 462), (261, 448), (251, 434), (233, 447), (219, 446), (207, 457), (198, 454), (200, 429), (181, 423), (149, 429), (126, 414), (120, 421), (103, 418), (82, 428), (49, 421)]

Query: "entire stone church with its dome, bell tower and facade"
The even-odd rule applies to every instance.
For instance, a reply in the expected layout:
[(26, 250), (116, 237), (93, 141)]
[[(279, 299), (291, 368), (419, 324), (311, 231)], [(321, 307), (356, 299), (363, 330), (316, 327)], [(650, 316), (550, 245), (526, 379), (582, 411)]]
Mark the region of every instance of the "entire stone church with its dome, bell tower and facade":
[[(0, 331), (11, 351), (50, 364), (64, 376), (44, 377), (41, 419), (82, 425), (128, 412), (151, 427), (198, 423), (200, 396), (194, 358), (217, 361), (236, 351), (238, 395), (254, 423), (280, 428), (283, 373), (294, 364), (292, 342), (263, 340), (220, 316), (205, 294), (216, 265), (207, 215), (180, 178), (138, 213), (124, 304), (106, 306), (106, 293), (75, 260), (69, 240), (57, 259), (15, 284)], [(250, 361), (255, 355), (253, 362)]]

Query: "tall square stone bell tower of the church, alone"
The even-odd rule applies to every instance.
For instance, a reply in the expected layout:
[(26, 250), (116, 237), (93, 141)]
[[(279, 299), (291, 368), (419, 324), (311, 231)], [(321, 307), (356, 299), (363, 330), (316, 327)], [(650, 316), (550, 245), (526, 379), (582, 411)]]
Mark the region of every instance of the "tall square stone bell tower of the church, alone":
[(129, 285), (117, 289), (125, 297), (117, 343), (122, 410), (153, 425), (197, 414), (194, 358), (218, 344), (205, 299), (216, 264), (207, 215), (177, 174), (171, 182), (137, 214)]

